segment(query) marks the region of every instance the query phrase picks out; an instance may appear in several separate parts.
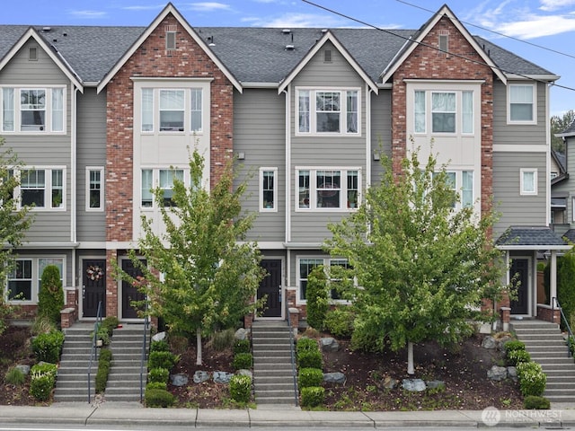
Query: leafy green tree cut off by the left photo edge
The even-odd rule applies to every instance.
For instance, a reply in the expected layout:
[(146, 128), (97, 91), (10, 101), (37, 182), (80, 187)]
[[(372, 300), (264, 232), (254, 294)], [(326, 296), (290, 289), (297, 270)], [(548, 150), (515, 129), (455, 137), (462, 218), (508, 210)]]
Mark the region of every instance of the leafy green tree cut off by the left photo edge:
[[(13, 251), (22, 244), (32, 223), (30, 207), (19, 208), (13, 194), (14, 188), (20, 184), (13, 175), (13, 169), (21, 164), (12, 149), (4, 148), (4, 138), (0, 136), (0, 242), (4, 244), (0, 250), (0, 280), (5, 280), (13, 270), (16, 259)], [(13, 305), (6, 303), (5, 295), (0, 295), (0, 334), (6, 328), (5, 319), (14, 310)]]

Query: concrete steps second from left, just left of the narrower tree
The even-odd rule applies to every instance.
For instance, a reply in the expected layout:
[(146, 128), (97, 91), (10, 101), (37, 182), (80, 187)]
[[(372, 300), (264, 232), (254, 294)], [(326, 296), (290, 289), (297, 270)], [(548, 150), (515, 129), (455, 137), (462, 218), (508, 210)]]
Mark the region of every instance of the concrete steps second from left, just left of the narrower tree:
[[(140, 364), (144, 345), (143, 324), (123, 324), (111, 337), (111, 368), (104, 392), (106, 401), (140, 400)], [(146, 331), (146, 350), (149, 351), (150, 331)], [(144, 360), (143, 385), (146, 388), (147, 352)]]

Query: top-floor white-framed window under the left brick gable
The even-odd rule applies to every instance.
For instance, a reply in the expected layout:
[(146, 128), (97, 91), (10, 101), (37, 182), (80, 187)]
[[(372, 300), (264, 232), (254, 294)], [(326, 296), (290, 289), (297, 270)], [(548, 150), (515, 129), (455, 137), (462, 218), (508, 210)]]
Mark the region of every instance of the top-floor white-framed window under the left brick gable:
[(162, 133), (201, 133), (204, 129), (202, 88), (144, 87), (140, 110), (140, 130), (145, 133), (154, 132), (156, 128)]

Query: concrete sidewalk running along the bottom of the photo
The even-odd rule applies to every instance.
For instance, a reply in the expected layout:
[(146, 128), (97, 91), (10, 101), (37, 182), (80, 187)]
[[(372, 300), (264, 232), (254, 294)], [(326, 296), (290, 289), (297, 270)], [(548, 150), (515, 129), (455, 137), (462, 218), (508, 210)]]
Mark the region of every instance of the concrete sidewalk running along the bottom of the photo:
[(550, 410), (306, 411), (261, 409), (145, 409), (137, 402), (0, 406), (2, 424), (182, 427), (575, 427), (575, 406)]

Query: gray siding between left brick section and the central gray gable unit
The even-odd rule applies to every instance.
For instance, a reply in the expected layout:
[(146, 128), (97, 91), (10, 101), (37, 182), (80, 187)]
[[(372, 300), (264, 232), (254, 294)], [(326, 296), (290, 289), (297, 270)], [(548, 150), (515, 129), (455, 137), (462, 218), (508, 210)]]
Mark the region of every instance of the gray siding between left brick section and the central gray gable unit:
[[(249, 233), (252, 240), (283, 242), (286, 239), (285, 130), (284, 94), (253, 89), (246, 89), (243, 94), (234, 93), (234, 153), (245, 154), (245, 160), (238, 161), (237, 180), (249, 181), (247, 193), (243, 195), (243, 209), (258, 213)], [(261, 167), (278, 168), (277, 212), (259, 212)]]

